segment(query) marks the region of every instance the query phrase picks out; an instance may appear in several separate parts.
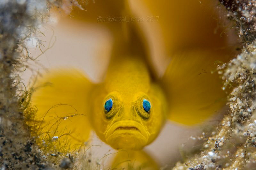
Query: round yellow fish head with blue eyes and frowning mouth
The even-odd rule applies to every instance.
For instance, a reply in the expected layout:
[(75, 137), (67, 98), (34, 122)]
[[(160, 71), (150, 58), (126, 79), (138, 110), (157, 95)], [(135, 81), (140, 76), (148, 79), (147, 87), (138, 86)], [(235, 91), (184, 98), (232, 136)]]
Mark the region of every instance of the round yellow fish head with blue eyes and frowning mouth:
[(92, 126), (115, 149), (139, 150), (154, 141), (164, 125), (166, 104), (161, 87), (150, 82), (147, 74), (142, 78), (135, 74), (117, 74), (92, 95)]

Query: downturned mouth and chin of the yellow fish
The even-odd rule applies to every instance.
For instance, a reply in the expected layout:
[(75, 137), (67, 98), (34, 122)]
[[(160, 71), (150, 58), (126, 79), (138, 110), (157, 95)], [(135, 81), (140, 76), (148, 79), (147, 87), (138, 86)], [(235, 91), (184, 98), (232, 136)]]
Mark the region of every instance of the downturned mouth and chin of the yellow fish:
[(139, 150), (148, 143), (148, 133), (136, 121), (118, 121), (106, 132), (107, 143), (115, 149)]

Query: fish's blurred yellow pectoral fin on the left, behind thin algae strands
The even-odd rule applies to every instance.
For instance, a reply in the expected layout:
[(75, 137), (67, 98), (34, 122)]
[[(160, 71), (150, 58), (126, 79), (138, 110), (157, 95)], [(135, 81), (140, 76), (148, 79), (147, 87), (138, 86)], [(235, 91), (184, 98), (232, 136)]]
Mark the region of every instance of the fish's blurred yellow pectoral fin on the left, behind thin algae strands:
[(88, 93), (92, 86), (77, 70), (53, 71), (37, 81), (31, 103), (38, 108), (40, 139), (58, 141), (62, 151), (84, 145), (91, 131)]

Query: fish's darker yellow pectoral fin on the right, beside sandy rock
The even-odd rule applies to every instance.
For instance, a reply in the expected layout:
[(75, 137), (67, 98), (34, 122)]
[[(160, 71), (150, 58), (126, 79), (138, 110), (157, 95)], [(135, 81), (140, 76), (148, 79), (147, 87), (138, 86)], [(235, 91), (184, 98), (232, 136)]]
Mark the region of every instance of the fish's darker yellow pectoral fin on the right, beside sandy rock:
[(203, 122), (225, 106), (226, 95), (216, 61), (227, 61), (223, 53), (190, 50), (172, 55), (162, 84), (168, 97), (169, 119), (186, 125)]

